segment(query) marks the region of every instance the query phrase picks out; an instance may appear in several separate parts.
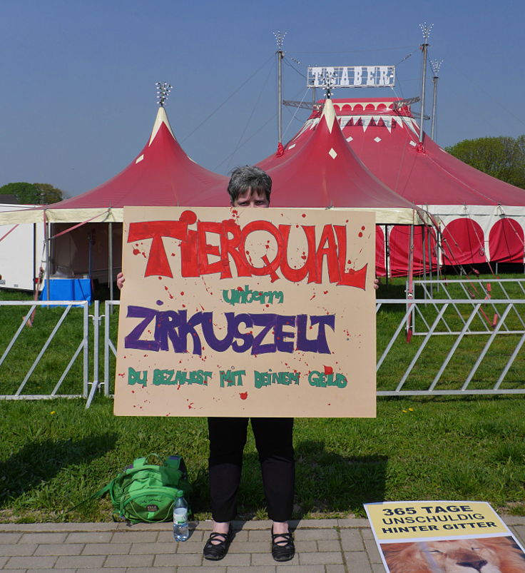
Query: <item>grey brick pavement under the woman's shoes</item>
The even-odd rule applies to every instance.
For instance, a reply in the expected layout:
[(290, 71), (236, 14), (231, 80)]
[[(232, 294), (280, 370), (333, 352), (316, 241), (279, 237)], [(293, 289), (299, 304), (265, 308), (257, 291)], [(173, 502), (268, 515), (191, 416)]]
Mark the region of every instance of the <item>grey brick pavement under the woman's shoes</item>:
[[(503, 516), (521, 544), (525, 517)], [(0, 524), (0, 570), (11, 573), (384, 573), (367, 519), (310, 519), (292, 523), (297, 554), (276, 564), (270, 522), (234, 522), (235, 539), (220, 562), (202, 557), (210, 522), (196, 524), (185, 543), (171, 525), (123, 523)]]

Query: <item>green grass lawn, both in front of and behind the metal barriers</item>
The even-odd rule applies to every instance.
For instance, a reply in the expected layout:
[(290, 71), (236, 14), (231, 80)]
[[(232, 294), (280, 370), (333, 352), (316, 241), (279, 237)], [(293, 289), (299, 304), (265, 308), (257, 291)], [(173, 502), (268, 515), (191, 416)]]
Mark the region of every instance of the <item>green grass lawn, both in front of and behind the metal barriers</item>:
[[(378, 298), (404, 298), (404, 280), (382, 286)], [(493, 293), (494, 294), (494, 293)], [(24, 295), (0, 293), (4, 300)], [(1, 308), (0, 355), (18, 328), (26, 308)], [(65, 328), (31, 377), (30, 393), (50, 392), (81, 338), (79, 310), (71, 310)], [(377, 319), (378, 353), (399, 323), (399, 308), (382, 310)], [(38, 310), (33, 328), (0, 369), (0, 394), (13, 393), (46, 340), (60, 309)], [(430, 313), (432, 314), (432, 312)], [(116, 330), (113, 318), (113, 335)], [(429, 315), (429, 318), (432, 316)], [(68, 321), (71, 320), (71, 323)], [(481, 365), (475, 387), (490, 387), (516, 340), (505, 337)], [(407, 358), (420, 344), (404, 336), (379, 370), (378, 388), (395, 387)], [(427, 387), (451, 345), (441, 337), (422, 355), (422, 367), (408, 387)], [(444, 375), (443, 387), (458, 387), (479, 352), (465, 340)], [(31, 351), (30, 351), (31, 350)], [(523, 352), (504, 387), (523, 387)], [(402, 360), (401, 360), (402, 358)], [(91, 360), (91, 359), (90, 359)], [(81, 366), (73, 365), (63, 393), (79, 393)], [(403, 366), (404, 365), (404, 366)], [(91, 372), (91, 365), (90, 365)], [(484, 500), (496, 509), (525, 514), (524, 396), (381, 398), (375, 419), (297, 419), (295, 517), (364, 516), (362, 504), (380, 500)], [(0, 521), (107, 521), (108, 500), (66, 509), (96, 492), (135, 457), (156, 452), (185, 457), (195, 493), (195, 517), (208, 514), (208, 441), (203, 418), (114, 417), (113, 402), (99, 395), (89, 410), (85, 400), (0, 401)], [(250, 436), (239, 513), (265, 518), (258, 458)]]

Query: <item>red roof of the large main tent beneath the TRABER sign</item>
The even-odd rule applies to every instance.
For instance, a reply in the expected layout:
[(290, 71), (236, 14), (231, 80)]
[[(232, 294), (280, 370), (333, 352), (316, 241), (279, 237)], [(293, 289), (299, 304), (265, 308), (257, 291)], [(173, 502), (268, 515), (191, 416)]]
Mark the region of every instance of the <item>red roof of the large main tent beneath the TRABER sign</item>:
[[(395, 110), (396, 101), (399, 98), (334, 100), (346, 141), (384, 184), (417, 205), (525, 206), (523, 189), (459, 161), (426, 134), (420, 148), (417, 122), (408, 106)], [(261, 165), (290, 161), (320, 121), (320, 113), (312, 113), (284, 155)]]

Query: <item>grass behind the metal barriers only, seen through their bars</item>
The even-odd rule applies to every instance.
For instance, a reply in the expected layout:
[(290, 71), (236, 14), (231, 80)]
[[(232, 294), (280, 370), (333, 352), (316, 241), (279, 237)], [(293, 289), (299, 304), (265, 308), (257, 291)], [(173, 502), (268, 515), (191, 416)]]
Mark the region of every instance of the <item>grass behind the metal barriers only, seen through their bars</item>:
[[(521, 277), (521, 275), (519, 275)], [(467, 281), (468, 283), (468, 281)], [(464, 293), (459, 287), (450, 289), (457, 295), (464, 298)], [(471, 288), (472, 290), (472, 288)], [(478, 289), (479, 290), (479, 289)], [(506, 290), (509, 295), (522, 296), (523, 293), (514, 285), (507, 285)], [(496, 287), (495, 283), (492, 286), (492, 293), (494, 297), (501, 297), (502, 294)], [(416, 292), (416, 296), (420, 296), (420, 292)], [(384, 305), (377, 314), (377, 357), (382, 354), (382, 351), (389, 343), (392, 334), (399, 325), (399, 321), (405, 312), (404, 304), (404, 279), (396, 278), (389, 281), (389, 285), (382, 285), (377, 293), (378, 298), (399, 298), (402, 299), (399, 305)], [(28, 300), (28, 296), (21, 293), (6, 293), (0, 291), (0, 300), (9, 299), (14, 300)], [(29, 307), (0, 307), (0, 355), (4, 353), (6, 346), (14, 335), (16, 329), (19, 327), (21, 318), (26, 314)], [(439, 310), (439, 308), (438, 308)], [(494, 309), (490, 304), (484, 305), (486, 316), (489, 320), (494, 315)], [(501, 313), (501, 309), (496, 308)], [(525, 307), (522, 309), (525, 310)], [(471, 308), (463, 307), (463, 318), (466, 319), (470, 313)], [(36, 310), (35, 323), (32, 328), (24, 328), (22, 330), (19, 340), (12, 348), (6, 360), (0, 365), (0, 395), (13, 394), (19, 387), (26, 372), (33, 364), (40, 348), (45, 343), (49, 334), (53, 330), (54, 325), (60, 318), (63, 309), (61, 308), (39, 308)], [(91, 312), (91, 311), (90, 311)], [(103, 306), (101, 306), (101, 313), (103, 313)], [(424, 315), (427, 323), (432, 324), (437, 310), (428, 305), (424, 307)], [(451, 328), (460, 329), (462, 326), (461, 321), (457, 315), (457, 311), (449, 307), (447, 313), (444, 315), (447, 324)], [(522, 320), (525, 317), (521, 317)], [(481, 328), (484, 319), (476, 318), (473, 326)], [(111, 316), (111, 338), (116, 344), (116, 331), (118, 323), (118, 307), (115, 308), (114, 314)], [(511, 313), (506, 321), (509, 328), (522, 329), (523, 326), (519, 322), (516, 313)], [(417, 315), (415, 320), (414, 332), (419, 332), (424, 323), (422, 318)], [(444, 322), (440, 323), (437, 331), (443, 332), (445, 330)], [(93, 344), (93, 328), (90, 327), (90, 349)], [(486, 343), (487, 336), (468, 336), (462, 340), (459, 345), (457, 353), (454, 358), (447, 365), (447, 369), (442, 375), (442, 379), (437, 386), (437, 390), (455, 389), (459, 390), (467, 377), (467, 374), (472, 367), (475, 357), (479, 355), (484, 344)], [(514, 348), (519, 343), (521, 335), (505, 335), (494, 340), (493, 345), (489, 349), (486, 358), (476, 372), (476, 376), (472, 380), (471, 388), (491, 388), (498, 380), (501, 370), (503, 370), (506, 361), (509, 359)], [(55, 338), (46, 350), (43, 359), (36, 366), (30, 380), (24, 387), (24, 394), (37, 395), (37, 394), (50, 394), (56, 385), (58, 378), (63, 372), (63, 369), (68, 364), (73, 356), (78, 344), (82, 339), (82, 310), (80, 308), (72, 308), (69, 312), (63, 325), (58, 330)], [(387, 359), (377, 373), (377, 388), (378, 390), (394, 390), (403, 375), (404, 369), (409, 364), (412, 357), (417, 352), (419, 345), (423, 342), (423, 337), (414, 335), (411, 343), (407, 344), (404, 331), (399, 335), (392, 350), (390, 351)], [(434, 337), (432, 343), (427, 345), (421, 357), (419, 358), (416, 367), (409, 375), (407, 382), (404, 385), (404, 390), (426, 390), (431, 384), (434, 376), (437, 374), (439, 367), (442, 364), (444, 356), (447, 355), (449, 349), (454, 343), (454, 338), (450, 336)], [(102, 361), (103, 361), (103, 328), (100, 331), (99, 343), (99, 359), (100, 369), (99, 376), (102, 376)], [(78, 356), (71, 368), (71, 371), (66, 376), (58, 394), (63, 395), (79, 395), (82, 393), (82, 355)], [(93, 351), (89, 353), (89, 373), (90, 380), (92, 380), (93, 373)], [(113, 378), (114, 378), (114, 360), (110, 362), (110, 392), (113, 392)], [(501, 385), (502, 389), (513, 389), (516, 387), (523, 387), (525, 372), (525, 348), (514, 361), (511, 369), (506, 375), (504, 383)]]

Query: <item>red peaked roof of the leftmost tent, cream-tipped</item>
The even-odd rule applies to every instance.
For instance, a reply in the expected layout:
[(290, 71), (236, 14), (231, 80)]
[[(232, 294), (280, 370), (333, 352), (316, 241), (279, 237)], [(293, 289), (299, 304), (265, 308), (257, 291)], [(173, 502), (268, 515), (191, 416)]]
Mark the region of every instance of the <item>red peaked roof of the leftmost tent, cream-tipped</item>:
[(227, 177), (208, 171), (185, 154), (160, 107), (151, 138), (134, 161), (106, 183), (51, 208), (190, 206), (195, 193), (227, 184)]

